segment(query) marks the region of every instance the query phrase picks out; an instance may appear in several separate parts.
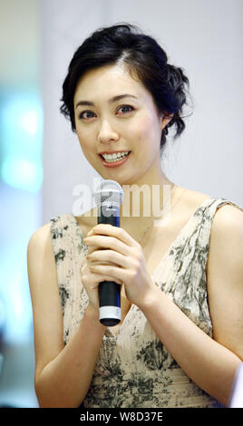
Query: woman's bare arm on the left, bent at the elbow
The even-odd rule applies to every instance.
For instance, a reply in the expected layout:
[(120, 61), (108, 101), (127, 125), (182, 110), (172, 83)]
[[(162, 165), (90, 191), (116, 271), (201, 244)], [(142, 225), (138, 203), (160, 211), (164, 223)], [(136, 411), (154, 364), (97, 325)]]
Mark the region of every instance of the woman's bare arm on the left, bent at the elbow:
[(30, 238), (28, 276), (34, 315), (35, 392), (41, 407), (78, 407), (89, 389), (105, 327), (89, 305), (72, 338), (63, 344), (50, 224)]

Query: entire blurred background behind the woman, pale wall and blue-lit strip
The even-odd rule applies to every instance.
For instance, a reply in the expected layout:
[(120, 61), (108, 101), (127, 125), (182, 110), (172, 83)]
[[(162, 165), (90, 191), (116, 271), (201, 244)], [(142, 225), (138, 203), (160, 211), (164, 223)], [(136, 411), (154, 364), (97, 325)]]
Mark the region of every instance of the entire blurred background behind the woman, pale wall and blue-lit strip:
[[(169, 138), (163, 168), (178, 185), (243, 206), (242, 0), (0, 0), (0, 406), (37, 407), (27, 245), (73, 211), (95, 170), (59, 112), (76, 48), (129, 22), (155, 37), (190, 79), (193, 115)], [(90, 204), (91, 203), (91, 204)]]

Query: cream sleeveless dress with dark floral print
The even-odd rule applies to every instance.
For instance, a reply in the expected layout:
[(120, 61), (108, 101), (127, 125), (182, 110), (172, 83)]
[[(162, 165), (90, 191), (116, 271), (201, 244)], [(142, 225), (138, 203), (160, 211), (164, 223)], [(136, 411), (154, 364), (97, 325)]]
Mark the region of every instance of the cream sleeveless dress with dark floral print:
[[(225, 204), (240, 208), (225, 198), (207, 198), (181, 229), (151, 276), (155, 285), (210, 337), (212, 323), (206, 277), (209, 237), (214, 214)], [(81, 273), (88, 247), (73, 214), (51, 218), (50, 223), (63, 309), (63, 342), (67, 344), (88, 305)], [(190, 380), (161, 344), (139, 307), (131, 305), (118, 334), (112, 334), (112, 327), (105, 330), (83, 407), (216, 408), (222, 405)]]

